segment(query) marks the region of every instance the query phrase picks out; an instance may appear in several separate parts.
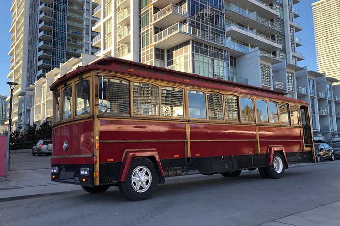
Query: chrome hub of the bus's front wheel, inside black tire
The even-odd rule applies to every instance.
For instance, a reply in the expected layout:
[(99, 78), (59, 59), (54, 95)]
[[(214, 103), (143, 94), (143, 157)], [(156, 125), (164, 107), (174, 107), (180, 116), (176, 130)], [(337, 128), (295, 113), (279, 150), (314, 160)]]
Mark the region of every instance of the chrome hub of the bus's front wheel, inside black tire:
[(145, 166), (136, 167), (131, 174), (131, 186), (136, 192), (145, 192), (151, 186), (152, 175)]

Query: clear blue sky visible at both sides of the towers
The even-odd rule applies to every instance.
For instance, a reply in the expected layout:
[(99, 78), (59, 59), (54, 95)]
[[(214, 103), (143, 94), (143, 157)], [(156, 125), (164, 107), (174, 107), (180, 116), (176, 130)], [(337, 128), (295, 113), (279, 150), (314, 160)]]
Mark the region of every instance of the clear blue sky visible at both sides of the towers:
[[(295, 4), (294, 7), (300, 11), (300, 17), (296, 19), (303, 28), (302, 31), (297, 32), (296, 36), (301, 38), (302, 46), (298, 47), (297, 50), (305, 56), (305, 60), (298, 62), (299, 66), (307, 66), (308, 70), (317, 71), (316, 55), (315, 55), (315, 41), (313, 31), (313, 18), (312, 18), (312, 6), (313, 2), (317, 0), (302, 0), (300, 3)], [(10, 51), (11, 35), (9, 30), (11, 28), (12, 14), (10, 8), (12, 1), (3, 0), (2, 6), (0, 7), (0, 15), (2, 22), (0, 24), (0, 94), (7, 95), (9, 86), (7, 74), (10, 72), (10, 57), (8, 52)]]

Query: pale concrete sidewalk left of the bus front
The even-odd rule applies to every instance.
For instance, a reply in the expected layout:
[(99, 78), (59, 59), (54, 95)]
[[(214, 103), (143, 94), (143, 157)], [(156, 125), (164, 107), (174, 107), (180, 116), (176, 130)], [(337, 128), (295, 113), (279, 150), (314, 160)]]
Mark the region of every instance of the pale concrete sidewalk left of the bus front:
[(0, 177), (0, 202), (82, 191), (78, 185), (51, 181), (49, 156), (31, 153), (11, 153), (12, 169), (9, 180)]

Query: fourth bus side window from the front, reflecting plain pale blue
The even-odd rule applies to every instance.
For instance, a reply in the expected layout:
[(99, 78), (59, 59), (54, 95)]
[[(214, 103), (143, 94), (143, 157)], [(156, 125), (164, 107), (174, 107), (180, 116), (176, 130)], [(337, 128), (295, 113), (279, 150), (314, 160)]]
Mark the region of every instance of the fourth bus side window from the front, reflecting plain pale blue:
[(189, 118), (206, 119), (205, 93), (201, 91), (188, 91)]

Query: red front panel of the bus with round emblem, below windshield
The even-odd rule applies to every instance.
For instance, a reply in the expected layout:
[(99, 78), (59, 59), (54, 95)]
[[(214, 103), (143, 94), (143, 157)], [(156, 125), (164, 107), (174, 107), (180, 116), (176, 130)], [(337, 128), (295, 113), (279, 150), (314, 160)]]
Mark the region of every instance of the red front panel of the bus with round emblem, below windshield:
[[(66, 152), (63, 149), (64, 141), (68, 143), (68, 148)], [(53, 129), (53, 156), (76, 156), (93, 154), (94, 140), (92, 120), (68, 124)], [(52, 164), (62, 162), (61, 160), (57, 159), (58, 158), (52, 158)], [(72, 159), (72, 157), (70, 159)], [(92, 163), (95, 163), (94, 158), (91, 159)], [(80, 162), (82, 161), (84, 160), (75, 157), (74, 160), (72, 160), (71, 162), (72, 164), (80, 164)]]

